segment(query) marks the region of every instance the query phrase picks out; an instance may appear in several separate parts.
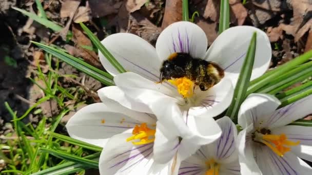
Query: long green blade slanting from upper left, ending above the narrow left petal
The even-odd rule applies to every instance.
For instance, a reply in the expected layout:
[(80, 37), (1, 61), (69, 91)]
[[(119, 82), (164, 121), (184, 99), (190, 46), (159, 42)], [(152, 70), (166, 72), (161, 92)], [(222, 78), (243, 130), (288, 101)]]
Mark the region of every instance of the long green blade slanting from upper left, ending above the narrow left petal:
[(34, 43), (35, 45), (37, 45), (38, 47), (40, 47), (41, 49), (45, 50), (46, 52), (54, 55), (55, 57), (63, 60), (64, 62), (68, 63), (69, 65), (71, 65), (72, 67), (76, 68), (77, 70), (82, 71), (83, 73), (89, 75), (90, 77), (93, 77), (94, 79), (102, 82), (103, 84), (106, 85), (114, 85), (113, 83), (113, 76), (111, 76), (110, 74), (101, 71), (95, 67), (93, 67), (92, 65), (78, 59), (75, 58), (65, 52), (62, 52), (60, 50), (57, 50), (55, 48), (43, 45), (42, 43), (38, 43), (38, 42), (34, 42), (31, 41), (32, 43)]

